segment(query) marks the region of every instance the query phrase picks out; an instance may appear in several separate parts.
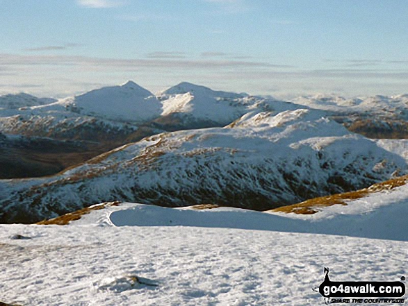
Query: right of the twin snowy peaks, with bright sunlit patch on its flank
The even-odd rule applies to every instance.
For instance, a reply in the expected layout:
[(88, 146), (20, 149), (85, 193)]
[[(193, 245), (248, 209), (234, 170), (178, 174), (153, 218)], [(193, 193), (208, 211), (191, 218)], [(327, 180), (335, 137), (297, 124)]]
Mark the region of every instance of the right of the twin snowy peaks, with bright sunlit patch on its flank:
[(163, 103), (163, 112), (155, 122), (170, 130), (225, 126), (254, 110), (281, 112), (300, 108), (293, 103), (215, 91), (187, 82), (157, 96)]

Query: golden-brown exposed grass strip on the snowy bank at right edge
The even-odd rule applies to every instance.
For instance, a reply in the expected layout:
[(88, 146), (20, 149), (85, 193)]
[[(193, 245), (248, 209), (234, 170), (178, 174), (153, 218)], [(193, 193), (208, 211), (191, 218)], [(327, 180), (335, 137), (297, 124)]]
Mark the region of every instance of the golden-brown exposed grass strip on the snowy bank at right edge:
[(355, 192), (345, 192), (344, 194), (333, 194), (332, 196), (322, 196), (320, 198), (311, 198), (310, 200), (302, 203), (287, 205), (275, 208), (274, 210), (268, 210), (268, 212), (294, 212), (295, 214), (316, 214), (320, 207), (327, 207), (336, 204), (347, 205), (346, 201), (356, 200), (357, 198), (363, 198), (368, 194), (374, 194), (376, 192), (384, 192), (391, 190), (395, 187), (400, 187), (408, 183), (408, 176), (400, 176), (399, 178), (393, 178), (386, 180), (385, 182), (379, 182), (371, 185), (368, 188), (360, 189)]

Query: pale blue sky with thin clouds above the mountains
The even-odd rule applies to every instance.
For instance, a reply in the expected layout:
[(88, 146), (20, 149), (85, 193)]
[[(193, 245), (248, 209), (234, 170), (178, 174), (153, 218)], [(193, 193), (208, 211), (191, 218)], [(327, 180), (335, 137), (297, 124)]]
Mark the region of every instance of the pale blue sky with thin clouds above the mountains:
[(408, 92), (407, 0), (0, 0), (0, 94)]

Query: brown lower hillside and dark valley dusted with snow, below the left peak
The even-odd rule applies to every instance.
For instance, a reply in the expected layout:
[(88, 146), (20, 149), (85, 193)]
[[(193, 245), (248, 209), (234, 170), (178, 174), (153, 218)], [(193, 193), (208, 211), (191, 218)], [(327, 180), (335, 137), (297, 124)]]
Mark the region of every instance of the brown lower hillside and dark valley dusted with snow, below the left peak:
[(0, 110), (0, 178), (51, 175), (161, 130), (65, 109)]

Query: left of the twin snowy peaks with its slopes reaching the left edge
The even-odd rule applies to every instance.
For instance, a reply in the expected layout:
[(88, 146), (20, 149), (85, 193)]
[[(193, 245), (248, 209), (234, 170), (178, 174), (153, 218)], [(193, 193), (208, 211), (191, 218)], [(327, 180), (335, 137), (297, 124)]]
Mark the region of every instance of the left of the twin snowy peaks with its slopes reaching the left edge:
[(0, 129), (15, 135), (116, 143), (138, 130), (136, 122), (145, 123), (160, 112), (156, 97), (129, 81), (46, 105), (0, 110)]

